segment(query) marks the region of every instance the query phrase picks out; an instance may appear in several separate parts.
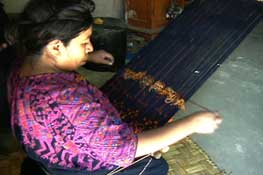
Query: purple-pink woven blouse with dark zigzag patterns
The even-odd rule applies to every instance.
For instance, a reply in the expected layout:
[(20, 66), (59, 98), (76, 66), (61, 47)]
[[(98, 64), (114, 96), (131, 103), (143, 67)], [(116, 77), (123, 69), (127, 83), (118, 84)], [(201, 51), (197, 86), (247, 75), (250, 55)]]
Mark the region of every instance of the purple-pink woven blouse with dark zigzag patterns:
[(137, 136), (101, 91), (81, 75), (9, 79), (12, 128), (26, 153), (47, 169), (95, 171), (128, 166)]

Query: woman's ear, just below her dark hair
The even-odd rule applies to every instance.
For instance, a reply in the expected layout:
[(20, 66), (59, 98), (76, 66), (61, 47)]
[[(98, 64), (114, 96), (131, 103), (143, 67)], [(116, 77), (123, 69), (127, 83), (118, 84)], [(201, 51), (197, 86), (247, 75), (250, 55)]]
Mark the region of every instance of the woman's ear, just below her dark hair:
[(65, 53), (65, 46), (60, 40), (52, 40), (47, 44), (46, 51), (49, 56), (58, 58)]

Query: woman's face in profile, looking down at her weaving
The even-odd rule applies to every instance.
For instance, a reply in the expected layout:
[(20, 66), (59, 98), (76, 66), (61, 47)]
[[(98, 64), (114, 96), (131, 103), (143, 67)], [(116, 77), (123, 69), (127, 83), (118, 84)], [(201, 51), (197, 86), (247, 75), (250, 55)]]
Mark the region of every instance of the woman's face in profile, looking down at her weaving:
[(57, 66), (59, 69), (71, 71), (86, 64), (88, 53), (93, 51), (93, 46), (90, 42), (91, 34), (92, 27), (84, 30), (69, 42), (65, 47), (62, 56), (57, 60)]

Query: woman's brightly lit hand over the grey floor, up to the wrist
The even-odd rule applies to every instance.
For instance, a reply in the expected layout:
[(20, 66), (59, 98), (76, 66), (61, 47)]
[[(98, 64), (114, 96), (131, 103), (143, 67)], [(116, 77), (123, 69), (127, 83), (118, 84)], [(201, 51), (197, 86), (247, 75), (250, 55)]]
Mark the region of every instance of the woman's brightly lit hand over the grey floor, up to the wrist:
[(211, 134), (222, 123), (222, 117), (217, 112), (197, 112), (191, 115), (195, 133)]

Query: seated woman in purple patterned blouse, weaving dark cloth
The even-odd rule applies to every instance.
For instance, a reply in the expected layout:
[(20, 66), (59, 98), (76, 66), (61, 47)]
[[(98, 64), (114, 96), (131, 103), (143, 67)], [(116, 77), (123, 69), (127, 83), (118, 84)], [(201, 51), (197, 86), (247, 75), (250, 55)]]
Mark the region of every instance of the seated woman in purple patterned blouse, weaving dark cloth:
[[(20, 64), (9, 81), (12, 126), (28, 157), (49, 174), (167, 174), (149, 157), (192, 133), (212, 133), (214, 112), (135, 134), (110, 101), (74, 70), (92, 56), (90, 0), (31, 0), (16, 35)], [(28, 172), (30, 173), (30, 172)], [(26, 174), (26, 173), (25, 173)]]

